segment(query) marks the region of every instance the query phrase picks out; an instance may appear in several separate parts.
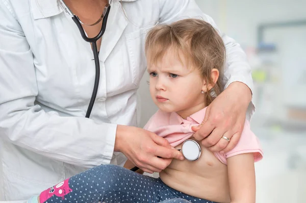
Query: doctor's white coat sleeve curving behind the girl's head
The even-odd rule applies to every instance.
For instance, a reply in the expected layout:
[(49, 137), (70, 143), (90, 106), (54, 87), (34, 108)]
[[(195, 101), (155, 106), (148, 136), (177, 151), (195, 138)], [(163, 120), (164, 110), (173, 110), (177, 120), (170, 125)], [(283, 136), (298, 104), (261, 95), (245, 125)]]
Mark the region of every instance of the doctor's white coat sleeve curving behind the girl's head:
[[(226, 48), (226, 63), (223, 78), (224, 89), (231, 83), (238, 81), (246, 84), (250, 88), (251, 92), (253, 92), (251, 68), (241, 46), (234, 39), (221, 33), (214, 20), (210, 16), (204, 14), (194, 0), (159, 0), (159, 3), (159, 23), (169, 24), (177, 20), (192, 17), (205, 20), (212, 24), (221, 35)], [(250, 120), (254, 110), (255, 107), (252, 101), (247, 110), (246, 117), (248, 120)]]

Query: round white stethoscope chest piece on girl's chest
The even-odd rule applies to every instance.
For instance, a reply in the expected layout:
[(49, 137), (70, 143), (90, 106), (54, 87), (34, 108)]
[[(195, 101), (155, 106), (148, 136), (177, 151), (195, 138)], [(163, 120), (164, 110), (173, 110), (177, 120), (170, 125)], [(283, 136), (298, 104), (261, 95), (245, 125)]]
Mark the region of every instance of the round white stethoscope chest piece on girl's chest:
[(201, 147), (195, 140), (185, 140), (182, 144), (182, 153), (188, 161), (195, 161), (201, 156)]

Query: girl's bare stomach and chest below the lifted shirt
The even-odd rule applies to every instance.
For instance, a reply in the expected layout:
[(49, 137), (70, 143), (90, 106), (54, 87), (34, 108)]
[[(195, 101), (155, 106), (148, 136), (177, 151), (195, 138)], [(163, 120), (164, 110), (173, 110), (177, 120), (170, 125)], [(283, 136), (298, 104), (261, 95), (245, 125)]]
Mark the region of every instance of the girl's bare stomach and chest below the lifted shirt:
[[(181, 149), (181, 145), (175, 148)], [(160, 172), (161, 180), (169, 187), (191, 196), (216, 202), (231, 202), (227, 167), (207, 148), (201, 146), (196, 161), (174, 160)]]

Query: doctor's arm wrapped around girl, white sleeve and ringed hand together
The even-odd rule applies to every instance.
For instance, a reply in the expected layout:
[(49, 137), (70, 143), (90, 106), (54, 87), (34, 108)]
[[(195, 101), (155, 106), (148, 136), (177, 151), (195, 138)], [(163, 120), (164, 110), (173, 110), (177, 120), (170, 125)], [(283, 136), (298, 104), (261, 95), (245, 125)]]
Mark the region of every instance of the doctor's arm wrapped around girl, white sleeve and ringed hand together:
[[(249, 120), (254, 105), (251, 102), (253, 81), (251, 68), (241, 46), (232, 38), (221, 33), (214, 20), (204, 14), (194, 0), (160, 0), (159, 23), (171, 23), (184, 18), (198, 18), (212, 24), (219, 32), (226, 48), (224, 66), (224, 91), (209, 105), (205, 119), (198, 128), (193, 128), (194, 137), (212, 151), (233, 149), (241, 136), (245, 117)], [(210, 135), (210, 136), (208, 136)], [(231, 139), (227, 142), (221, 139)], [(222, 151), (221, 151), (222, 153)]]

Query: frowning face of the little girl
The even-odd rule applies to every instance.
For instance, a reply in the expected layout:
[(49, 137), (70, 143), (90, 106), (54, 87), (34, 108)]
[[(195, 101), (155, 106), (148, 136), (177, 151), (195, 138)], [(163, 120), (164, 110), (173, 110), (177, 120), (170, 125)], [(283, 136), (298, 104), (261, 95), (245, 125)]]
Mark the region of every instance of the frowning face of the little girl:
[[(181, 59), (181, 60), (180, 60)], [(150, 95), (164, 112), (176, 112), (183, 118), (205, 108), (201, 94), (205, 82), (197, 68), (188, 67), (181, 54), (168, 51), (156, 64), (148, 64)]]

